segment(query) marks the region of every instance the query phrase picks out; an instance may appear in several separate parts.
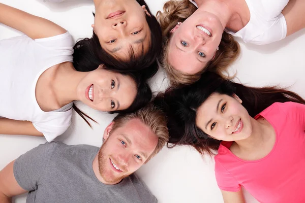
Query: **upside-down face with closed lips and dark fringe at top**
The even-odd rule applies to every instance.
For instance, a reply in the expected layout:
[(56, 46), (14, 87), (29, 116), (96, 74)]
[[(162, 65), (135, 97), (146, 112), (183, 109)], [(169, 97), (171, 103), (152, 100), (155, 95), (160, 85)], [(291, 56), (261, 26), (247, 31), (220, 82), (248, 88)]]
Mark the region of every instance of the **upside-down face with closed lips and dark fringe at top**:
[(150, 42), (146, 15), (150, 14), (145, 6), (136, 0), (101, 1), (96, 5), (93, 27), (102, 48), (123, 60), (130, 58), (131, 48), (135, 56), (146, 53)]

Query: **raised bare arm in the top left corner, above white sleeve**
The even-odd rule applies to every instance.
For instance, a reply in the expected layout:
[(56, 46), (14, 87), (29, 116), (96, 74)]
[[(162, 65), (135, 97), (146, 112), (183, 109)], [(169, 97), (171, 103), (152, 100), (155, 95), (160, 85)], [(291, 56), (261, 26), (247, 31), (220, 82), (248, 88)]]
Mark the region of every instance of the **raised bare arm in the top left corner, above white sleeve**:
[(48, 38), (67, 32), (63, 27), (0, 3), (0, 23), (17, 29), (32, 39)]

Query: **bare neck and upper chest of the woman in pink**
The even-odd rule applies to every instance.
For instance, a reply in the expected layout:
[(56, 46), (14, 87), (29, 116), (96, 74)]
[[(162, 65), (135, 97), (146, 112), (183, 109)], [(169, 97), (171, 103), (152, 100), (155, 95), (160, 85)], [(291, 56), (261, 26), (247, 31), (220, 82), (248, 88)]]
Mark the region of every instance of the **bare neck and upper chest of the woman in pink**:
[(253, 149), (257, 149), (265, 142), (265, 133), (268, 128), (265, 119), (255, 120), (254, 118), (251, 118), (251, 125), (251, 136), (244, 140), (235, 141), (241, 151), (253, 151)]

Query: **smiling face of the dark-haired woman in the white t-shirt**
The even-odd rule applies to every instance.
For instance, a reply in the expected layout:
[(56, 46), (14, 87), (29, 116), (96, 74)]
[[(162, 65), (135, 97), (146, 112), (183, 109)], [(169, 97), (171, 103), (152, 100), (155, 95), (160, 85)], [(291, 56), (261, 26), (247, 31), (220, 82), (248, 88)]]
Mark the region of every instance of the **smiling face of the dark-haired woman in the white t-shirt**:
[(136, 94), (136, 83), (130, 76), (105, 70), (102, 66), (88, 72), (77, 86), (78, 100), (99, 111), (127, 109)]

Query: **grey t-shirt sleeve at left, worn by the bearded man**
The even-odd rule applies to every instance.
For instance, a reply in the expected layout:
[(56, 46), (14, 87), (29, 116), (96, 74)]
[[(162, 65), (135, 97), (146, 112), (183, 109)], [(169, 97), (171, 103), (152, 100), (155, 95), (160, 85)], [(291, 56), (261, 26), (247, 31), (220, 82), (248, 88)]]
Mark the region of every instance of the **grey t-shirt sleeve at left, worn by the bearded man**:
[(14, 162), (14, 176), (24, 190), (36, 190), (53, 154), (56, 143), (45, 143), (19, 156)]

